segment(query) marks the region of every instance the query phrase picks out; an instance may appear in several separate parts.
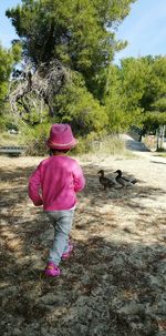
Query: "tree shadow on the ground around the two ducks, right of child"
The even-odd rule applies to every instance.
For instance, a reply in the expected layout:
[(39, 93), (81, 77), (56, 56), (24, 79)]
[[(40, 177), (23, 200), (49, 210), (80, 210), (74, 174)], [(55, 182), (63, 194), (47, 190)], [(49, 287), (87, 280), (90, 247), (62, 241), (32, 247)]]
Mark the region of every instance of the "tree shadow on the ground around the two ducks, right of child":
[[(135, 210), (139, 211), (139, 208), (146, 207), (146, 204), (144, 205), (144, 200), (146, 201), (146, 198), (149, 198), (155, 202), (158, 196), (165, 194), (164, 186), (163, 189), (153, 187), (152, 185), (148, 185), (148, 181), (138, 181), (137, 184), (131, 187), (113, 187), (104, 191), (98, 182), (97, 170), (98, 167), (96, 171), (94, 167), (86, 167), (86, 186), (79, 197), (87, 206), (97, 206), (97, 208), (102, 208), (105, 205), (113, 204), (114, 206), (120, 207), (135, 207)], [(113, 172), (111, 173), (107, 170), (105, 170), (105, 175), (107, 177), (115, 176)], [(134, 177), (126, 172), (124, 172), (124, 175), (129, 179)]]

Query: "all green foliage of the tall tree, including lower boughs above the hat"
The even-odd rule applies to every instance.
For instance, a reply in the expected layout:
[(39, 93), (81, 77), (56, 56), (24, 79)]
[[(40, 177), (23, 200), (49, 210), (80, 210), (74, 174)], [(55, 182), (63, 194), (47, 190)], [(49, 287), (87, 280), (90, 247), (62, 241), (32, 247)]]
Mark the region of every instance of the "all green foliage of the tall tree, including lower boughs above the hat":
[[(6, 12), (20, 38), (21, 44), (13, 44), (14, 57), (22, 45), (23, 57), (33, 71), (56, 59), (82, 77), (66, 84), (54, 99), (54, 121), (70, 122), (77, 134), (98, 133), (108, 123), (106, 109), (101, 105), (107, 68), (115, 51), (126, 43), (116, 41), (115, 28), (133, 2), (22, 0), (22, 4)], [(33, 94), (21, 103), (20, 116), (29, 125), (46, 121), (46, 110), (41, 113)]]

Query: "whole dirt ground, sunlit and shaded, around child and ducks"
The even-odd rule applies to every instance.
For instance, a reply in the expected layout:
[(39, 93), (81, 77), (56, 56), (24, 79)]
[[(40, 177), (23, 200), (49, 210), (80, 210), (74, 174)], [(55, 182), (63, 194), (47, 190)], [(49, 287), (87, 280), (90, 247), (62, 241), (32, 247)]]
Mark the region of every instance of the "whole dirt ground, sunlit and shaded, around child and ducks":
[[(28, 197), (42, 157), (0, 157), (1, 335), (166, 335), (166, 157), (134, 154), (77, 159), (86, 186), (59, 278), (43, 276), (53, 231)], [(138, 183), (105, 192), (101, 169)]]

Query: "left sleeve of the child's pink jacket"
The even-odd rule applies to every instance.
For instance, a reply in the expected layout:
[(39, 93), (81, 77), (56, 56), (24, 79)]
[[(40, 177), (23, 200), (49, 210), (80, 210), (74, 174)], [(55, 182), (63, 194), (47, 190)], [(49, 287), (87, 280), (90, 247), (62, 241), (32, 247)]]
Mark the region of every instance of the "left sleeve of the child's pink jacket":
[(41, 171), (39, 165), (35, 171), (31, 174), (29, 179), (29, 197), (35, 206), (43, 204), (42, 197), (40, 195), (41, 187)]

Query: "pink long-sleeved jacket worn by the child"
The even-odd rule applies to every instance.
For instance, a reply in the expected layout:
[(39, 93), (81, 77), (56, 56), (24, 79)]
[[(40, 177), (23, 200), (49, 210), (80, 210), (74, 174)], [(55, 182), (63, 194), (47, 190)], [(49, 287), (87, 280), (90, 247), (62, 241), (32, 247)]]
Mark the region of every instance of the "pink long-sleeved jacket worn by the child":
[(53, 155), (43, 160), (29, 180), (29, 196), (45, 211), (69, 210), (76, 204), (76, 193), (85, 179), (77, 162), (70, 156)]

